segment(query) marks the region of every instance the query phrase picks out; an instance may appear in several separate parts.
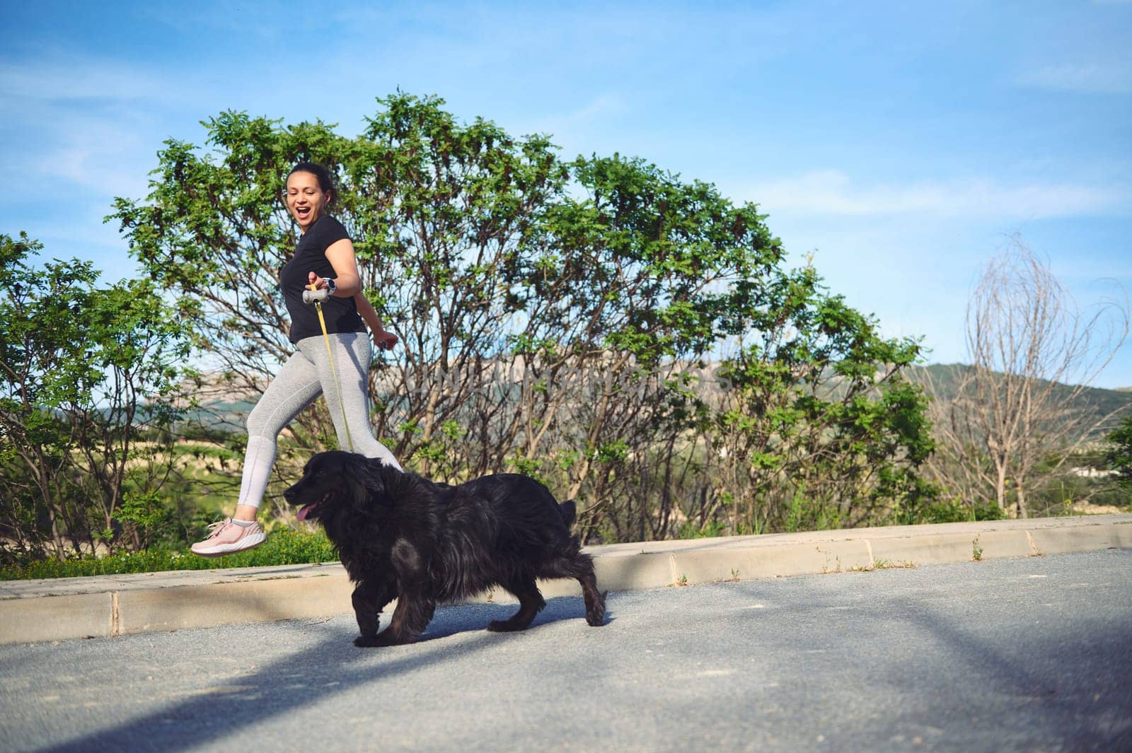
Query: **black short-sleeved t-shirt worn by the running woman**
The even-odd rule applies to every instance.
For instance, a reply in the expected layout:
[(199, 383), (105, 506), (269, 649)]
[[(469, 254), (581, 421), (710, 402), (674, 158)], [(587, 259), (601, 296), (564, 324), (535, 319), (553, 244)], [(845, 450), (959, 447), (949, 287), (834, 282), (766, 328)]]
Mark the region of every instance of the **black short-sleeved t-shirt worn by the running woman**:
[[(342, 223), (329, 215), (323, 215), (302, 234), (294, 250), (294, 257), (280, 270), (283, 300), (286, 302), (288, 313), (291, 314), (292, 343), (323, 334), (323, 328), (318, 323), (318, 312), (315, 311), (314, 304), (302, 302), (302, 292), (309, 284), (308, 272), (315, 272), (319, 277), (337, 276), (331, 260), (326, 258), (326, 249), (349, 237), (350, 234)], [(328, 297), (323, 303), (323, 317), (326, 318), (327, 332), (366, 331), (352, 297)]]

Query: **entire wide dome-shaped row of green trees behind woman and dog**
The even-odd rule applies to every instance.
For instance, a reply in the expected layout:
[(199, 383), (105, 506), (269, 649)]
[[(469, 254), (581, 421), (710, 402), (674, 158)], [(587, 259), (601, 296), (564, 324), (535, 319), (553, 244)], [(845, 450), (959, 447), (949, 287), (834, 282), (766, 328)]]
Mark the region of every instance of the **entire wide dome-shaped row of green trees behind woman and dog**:
[[(856, 525), (931, 492), (923, 396), (902, 376), (918, 346), (787, 269), (755, 205), (641, 159), (563, 161), (443, 104), (379, 99), (355, 138), (222, 113), (209, 148), (168, 141), (149, 196), (117, 200), (224, 389), (254, 396), (290, 352), (282, 176), (314, 159), (401, 337), (371, 369), (374, 427), (415, 469), (535, 475), (609, 540)], [(305, 413), (295, 451), (326, 447), (328, 425)]]

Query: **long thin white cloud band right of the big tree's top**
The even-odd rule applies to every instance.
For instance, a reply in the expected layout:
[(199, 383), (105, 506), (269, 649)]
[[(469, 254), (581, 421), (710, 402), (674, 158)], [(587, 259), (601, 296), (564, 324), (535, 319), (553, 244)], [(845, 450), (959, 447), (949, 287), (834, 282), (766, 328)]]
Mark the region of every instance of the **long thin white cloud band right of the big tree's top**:
[(1127, 215), (1127, 187), (1070, 183), (1003, 185), (987, 178), (919, 181), (903, 185), (855, 184), (838, 170), (757, 183), (740, 196), (767, 211), (816, 215), (923, 215), (933, 218), (1045, 219), (1053, 217)]

